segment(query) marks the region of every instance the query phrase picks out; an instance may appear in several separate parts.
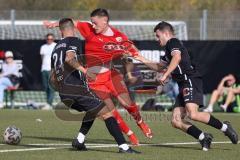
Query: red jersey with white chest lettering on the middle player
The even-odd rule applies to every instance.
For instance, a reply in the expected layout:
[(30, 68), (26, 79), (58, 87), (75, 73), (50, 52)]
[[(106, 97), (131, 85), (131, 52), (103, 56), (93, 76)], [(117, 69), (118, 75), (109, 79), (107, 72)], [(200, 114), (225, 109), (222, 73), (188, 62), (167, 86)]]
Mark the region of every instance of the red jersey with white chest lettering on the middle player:
[[(105, 36), (103, 34), (96, 34), (92, 25), (88, 22), (77, 22), (77, 29), (85, 38), (85, 56), (87, 67), (102, 65), (111, 62), (113, 59), (122, 57), (126, 52), (126, 41), (128, 37), (111, 27), (113, 36)], [(136, 51), (129, 52), (136, 55)]]

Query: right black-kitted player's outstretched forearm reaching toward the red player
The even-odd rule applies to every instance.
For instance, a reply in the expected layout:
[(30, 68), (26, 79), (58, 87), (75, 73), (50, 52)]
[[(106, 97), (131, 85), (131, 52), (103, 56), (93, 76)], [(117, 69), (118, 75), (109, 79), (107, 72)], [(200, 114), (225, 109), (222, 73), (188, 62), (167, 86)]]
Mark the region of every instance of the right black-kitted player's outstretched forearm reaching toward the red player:
[(149, 68), (155, 70), (155, 71), (162, 71), (163, 69), (166, 68), (167, 64), (164, 62), (160, 62), (160, 63), (156, 63), (156, 62), (152, 62), (146, 58), (144, 58), (143, 56), (141, 56), (140, 54), (136, 55), (133, 57), (134, 59), (144, 63), (146, 66), (148, 66)]

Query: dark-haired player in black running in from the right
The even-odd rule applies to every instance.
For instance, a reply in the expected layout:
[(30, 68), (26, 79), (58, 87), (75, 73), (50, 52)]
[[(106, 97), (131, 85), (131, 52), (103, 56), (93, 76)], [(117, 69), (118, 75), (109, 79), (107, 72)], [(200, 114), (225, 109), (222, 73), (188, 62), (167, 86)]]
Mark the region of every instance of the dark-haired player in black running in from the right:
[(174, 29), (167, 22), (160, 22), (155, 26), (154, 32), (160, 46), (165, 46), (165, 62), (153, 63), (142, 56), (135, 57), (154, 70), (166, 68), (160, 78), (160, 83), (167, 83), (171, 75), (178, 83), (179, 95), (176, 98), (172, 114), (172, 126), (198, 139), (202, 149), (207, 151), (212, 142), (212, 135), (201, 131), (191, 124), (185, 117), (198, 121), (221, 130), (233, 144), (238, 143), (238, 135), (229, 122), (221, 122), (209, 113), (199, 112), (203, 106), (203, 83), (200, 73), (190, 60), (187, 49), (182, 42), (174, 37)]

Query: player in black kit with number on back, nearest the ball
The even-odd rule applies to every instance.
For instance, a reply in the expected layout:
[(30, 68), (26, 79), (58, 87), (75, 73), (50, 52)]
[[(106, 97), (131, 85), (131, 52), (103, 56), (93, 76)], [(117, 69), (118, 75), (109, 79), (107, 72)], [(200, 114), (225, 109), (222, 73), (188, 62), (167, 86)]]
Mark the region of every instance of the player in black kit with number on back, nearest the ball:
[[(69, 18), (59, 21), (62, 38), (54, 48), (51, 56), (50, 82), (59, 92), (61, 101), (79, 112), (85, 111), (80, 133), (73, 140), (72, 146), (78, 150), (86, 150), (85, 135), (91, 128), (96, 117), (104, 120), (109, 133), (114, 137), (121, 153), (139, 153), (131, 149), (113, 118), (111, 110), (89, 89), (82, 66), (81, 41), (75, 37), (74, 24)], [(88, 76), (91, 72), (87, 73)], [(94, 78), (94, 77), (93, 77)]]

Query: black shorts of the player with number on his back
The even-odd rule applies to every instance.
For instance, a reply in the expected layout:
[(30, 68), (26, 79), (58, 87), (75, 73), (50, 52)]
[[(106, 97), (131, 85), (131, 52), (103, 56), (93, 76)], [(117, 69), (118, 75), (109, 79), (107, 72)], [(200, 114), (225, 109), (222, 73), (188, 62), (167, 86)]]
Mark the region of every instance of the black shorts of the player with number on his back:
[(105, 106), (104, 102), (86, 86), (65, 87), (59, 96), (66, 106), (79, 112), (93, 110), (98, 112)]

